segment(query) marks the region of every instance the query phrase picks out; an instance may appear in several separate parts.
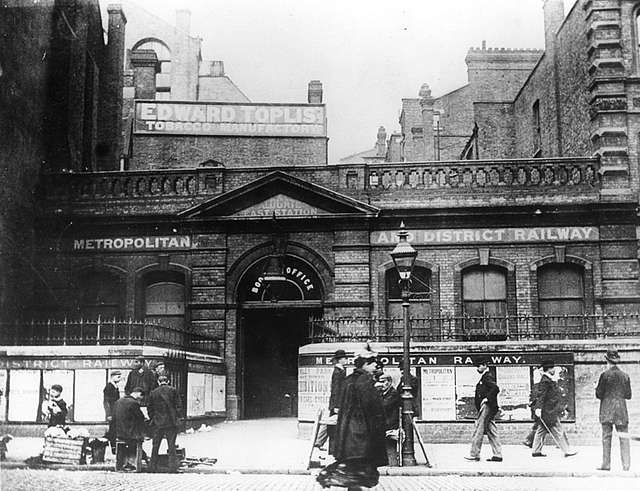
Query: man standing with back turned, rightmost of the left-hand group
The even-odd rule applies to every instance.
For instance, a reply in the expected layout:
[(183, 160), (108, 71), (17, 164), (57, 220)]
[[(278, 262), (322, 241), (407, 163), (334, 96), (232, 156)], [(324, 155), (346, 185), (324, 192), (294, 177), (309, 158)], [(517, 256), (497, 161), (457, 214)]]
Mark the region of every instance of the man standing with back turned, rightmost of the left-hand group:
[(158, 383), (160, 386), (151, 391), (147, 403), (153, 435), (150, 471), (158, 471), (158, 450), (162, 439), (166, 438), (169, 472), (176, 472), (178, 470), (176, 436), (178, 435), (180, 397), (178, 391), (169, 385), (169, 378), (166, 375), (160, 375)]

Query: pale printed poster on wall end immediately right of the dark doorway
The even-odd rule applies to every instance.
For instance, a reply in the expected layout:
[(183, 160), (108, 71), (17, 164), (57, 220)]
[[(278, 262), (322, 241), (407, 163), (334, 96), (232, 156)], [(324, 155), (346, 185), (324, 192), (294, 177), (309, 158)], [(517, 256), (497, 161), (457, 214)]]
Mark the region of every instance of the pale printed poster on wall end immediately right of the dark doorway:
[(298, 419), (313, 421), (329, 407), (332, 366), (298, 368)]

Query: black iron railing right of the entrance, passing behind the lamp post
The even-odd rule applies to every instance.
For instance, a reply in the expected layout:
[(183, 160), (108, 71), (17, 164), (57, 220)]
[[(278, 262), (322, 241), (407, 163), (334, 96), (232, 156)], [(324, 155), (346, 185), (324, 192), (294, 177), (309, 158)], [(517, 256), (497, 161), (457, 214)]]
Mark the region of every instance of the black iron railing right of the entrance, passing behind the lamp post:
[[(523, 341), (560, 339), (602, 339), (640, 336), (639, 314), (522, 315), (522, 316), (437, 316), (412, 318), (411, 340)], [(403, 320), (377, 317), (311, 319), (309, 342), (401, 341)]]

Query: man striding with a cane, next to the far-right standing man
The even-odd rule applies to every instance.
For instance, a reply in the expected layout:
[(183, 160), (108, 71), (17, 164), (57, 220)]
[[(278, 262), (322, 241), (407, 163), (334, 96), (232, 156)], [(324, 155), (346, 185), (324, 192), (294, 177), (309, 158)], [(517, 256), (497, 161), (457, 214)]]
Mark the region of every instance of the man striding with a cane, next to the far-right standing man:
[(540, 426), (538, 426), (533, 439), (533, 453), (531, 454), (533, 457), (546, 457), (542, 453), (542, 446), (547, 434), (551, 435), (564, 452), (565, 457), (571, 457), (578, 453), (569, 446), (560, 423), (560, 416), (564, 409), (562, 392), (556, 381), (555, 366), (552, 361), (547, 360), (542, 364), (542, 376), (540, 377), (537, 398), (534, 404), (535, 416), (540, 421)]

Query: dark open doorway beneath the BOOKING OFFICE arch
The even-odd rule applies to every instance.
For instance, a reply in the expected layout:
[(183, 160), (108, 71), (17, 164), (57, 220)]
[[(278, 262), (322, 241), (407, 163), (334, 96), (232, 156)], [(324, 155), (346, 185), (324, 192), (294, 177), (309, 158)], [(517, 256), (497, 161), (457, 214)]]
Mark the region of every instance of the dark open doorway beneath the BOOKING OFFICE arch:
[(243, 309), (244, 418), (298, 414), (298, 348), (308, 336), (310, 317), (321, 309)]

